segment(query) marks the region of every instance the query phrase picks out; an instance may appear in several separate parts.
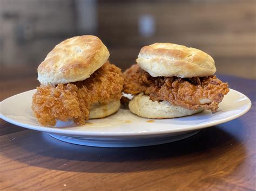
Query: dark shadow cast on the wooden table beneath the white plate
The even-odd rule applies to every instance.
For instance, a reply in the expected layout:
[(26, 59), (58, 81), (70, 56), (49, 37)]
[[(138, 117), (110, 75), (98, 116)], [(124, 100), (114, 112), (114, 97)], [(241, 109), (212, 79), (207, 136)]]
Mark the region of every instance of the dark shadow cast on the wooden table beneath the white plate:
[(177, 142), (133, 148), (73, 145), (46, 133), (28, 130), (22, 139), (13, 140), (10, 148), (1, 153), (27, 165), (68, 172), (141, 172), (185, 166), (191, 171), (204, 168), (221, 171), (221, 164), (232, 165), (235, 157), (241, 158), (240, 164), (244, 159), (246, 151), (242, 141), (248, 129), (242, 124), (240, 119), (235, 119)]

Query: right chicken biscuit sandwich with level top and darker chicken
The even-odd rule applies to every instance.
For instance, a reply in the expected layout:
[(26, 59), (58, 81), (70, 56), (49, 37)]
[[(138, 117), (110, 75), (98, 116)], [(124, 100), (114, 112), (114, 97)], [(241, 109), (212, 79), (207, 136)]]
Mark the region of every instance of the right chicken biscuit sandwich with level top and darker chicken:
[(196, 48), (156, 43), (140, 50), (137, 65), (123, 76), (129, 109), (145, 118), (174, 118), (217, 111), (228, 84), (214, 73), (214, 60)]

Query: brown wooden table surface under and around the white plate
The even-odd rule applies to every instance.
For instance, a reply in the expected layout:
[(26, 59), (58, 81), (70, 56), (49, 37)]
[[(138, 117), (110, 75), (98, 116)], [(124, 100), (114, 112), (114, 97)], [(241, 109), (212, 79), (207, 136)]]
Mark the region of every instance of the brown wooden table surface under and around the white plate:
[[(1, 120), (0, 189), (256, 189), (255, 80), (219, 77), (250, 97), (251, 110), (170, 144), (79, 146)], [(1, 99), (33, 88), (35, 79), (1, 81)]]

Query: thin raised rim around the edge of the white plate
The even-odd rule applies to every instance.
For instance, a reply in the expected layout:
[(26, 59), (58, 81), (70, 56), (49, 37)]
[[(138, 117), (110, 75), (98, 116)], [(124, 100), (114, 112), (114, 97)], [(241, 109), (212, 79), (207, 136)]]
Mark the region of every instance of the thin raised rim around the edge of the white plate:
[(232, 121), (233, 119), (238, 118), (238, 117), (246, 114), (246, 112), (248, 112), (251, 109), (251, 106), (252, 106), (252, 102), (251, 102), (250, 98), (248, 98), (246, 95), (240, 93), (239, 91), (230, 88), (231, 91), (234, 91), (234, 92), (244, 96), (247, 99), (248, 104), (249, 104), (248, 107), (245, 110), (239, 112), (238, 114), (226, 117), (224, 119), (220, 119), (220, 120), (215, 121), (215, 122), (210, 122), (210, 123), (207, 123), (207, 124), (190, 125), (190, 126), (184, 127), (183, 129), (167, 129), (167, 130), (161, 130), (161, 131), (156, 130), (156, 131), (142, 131), (142, 132), (138, 131), (138, 132), (135, 132), (135, 133), (131, 133), (131, 132), (119, 132), (118, 133), (118, 132), (76, 131), (76, 130), (70, 130), (70, 129), (51, 128), (51, 127), (47, 127), (47, 126), (30, 125), (30, 124), (26, 124), (26, 123), (22, 123), (22, 122), (17, 122), (14, 119), (6, 117), (5, 115), (2, 114), (1, 105), (2, 105), (3, 102), (8, 101), (10, 98), (13, 98), (14, 96), (17, 96), (17, 95), (20, 95), (20, 94), (27, 94), (27, 93), (29, 93), (29, 91), (35, 91), (35, 90), (36, 89), (24, 91), (23, 93), (13, 95), (13, 96), (8, 97), (5, 100), (1, 101), (0, 102), (0, 118), (2, 118), (6, 122), (9, 122), (9, 123), (17, 125), (17, 126), (21, 126), (23, 128), (26, 128), (26, 129), (48, 132), (48, 133), (55, 133), (55, 134), (59, 134), (59, 135), (70, 135), (70, 136), (79, 135), (79, 136), (86, 136), (86, 137), (141, 137), (141, 136), (147, 136), (147, 135), (167, 135), (167, 134), (171, 134), (171, 133), (196, 131), (196, 130), (200, 130), (200, 129), (203, 129), (203, 128), (208, 128), (210, 126), (214, 126), (214, 125), (222, 124), (222, 123), (225, 123), (225, 122), (228, 122), (228, 121)]

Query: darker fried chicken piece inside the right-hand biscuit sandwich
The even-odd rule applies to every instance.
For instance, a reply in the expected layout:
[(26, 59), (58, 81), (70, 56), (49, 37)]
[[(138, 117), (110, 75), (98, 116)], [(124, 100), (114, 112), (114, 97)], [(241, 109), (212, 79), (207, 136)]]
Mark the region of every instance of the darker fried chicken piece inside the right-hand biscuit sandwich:
[[(168, 101), (190, 110), (199, 108), (215, 112), (228, 93), (228, 84), (216, 76), (206, 77), (152, 77), (138, 65), (133, 65), (124, 74), (124, 93), (149, 95), (152, 101)], [(208, 99), (211, 103), (200, 103)]]

